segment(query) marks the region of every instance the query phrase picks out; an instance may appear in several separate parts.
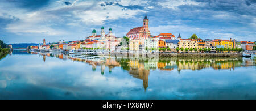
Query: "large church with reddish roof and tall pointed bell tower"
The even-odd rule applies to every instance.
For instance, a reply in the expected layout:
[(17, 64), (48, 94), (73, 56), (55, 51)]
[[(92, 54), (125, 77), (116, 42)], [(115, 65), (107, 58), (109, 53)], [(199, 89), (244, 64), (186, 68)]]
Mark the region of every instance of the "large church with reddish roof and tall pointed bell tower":
[(149, 20), (147, 19), (147, 15), (143, 19), (143, 27), (136, 27), (131, 29), (126, 36), (130, 39), (138, 38), (138, 39), (148, 39), (151, 38), (150, 30), (148, 28)]

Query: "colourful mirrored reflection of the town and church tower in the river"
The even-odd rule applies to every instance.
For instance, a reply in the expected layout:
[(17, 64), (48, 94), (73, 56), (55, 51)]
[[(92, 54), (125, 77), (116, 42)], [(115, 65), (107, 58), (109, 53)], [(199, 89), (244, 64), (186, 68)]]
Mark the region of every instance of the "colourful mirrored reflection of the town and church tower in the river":
[(92, 66), (92, 70), (96, 71), (97, 66), (101, 69), (101, 74), (105, 74), (105, 69), (112, 69), (121, 67), (123, 70), (129, 72), (133, 78), (141, 79), (145, 91), (148, 88), (148, 76), (152, 70), (169, 71), (177, 70), (180, 74), (182, 70), (201, 70), (212, 68), (214, 70), (235, 70), (236, 67), (255, 66), (255, 59), (243, 59), (242, 57), (236, 58), (121, 58), (121, 57), (98, 57), (98, 56), (85, 56), (85, 55), (68, 55), (61, 53), (31, 53), (39, 54), (46, 62), (46, 57), (56, 57), (63, 60), (71, 59), (76, 62), (84, 62)]

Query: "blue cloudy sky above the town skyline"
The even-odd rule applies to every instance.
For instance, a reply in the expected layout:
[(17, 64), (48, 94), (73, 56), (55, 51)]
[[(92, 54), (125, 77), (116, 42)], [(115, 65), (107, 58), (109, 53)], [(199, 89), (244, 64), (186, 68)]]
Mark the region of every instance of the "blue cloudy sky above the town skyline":
[(84, 40), (102, 26), (123, 37), (143, 25), (145, 14), (154, 36), (256, 41), (256, 0), (1, 0), (0, 40)]

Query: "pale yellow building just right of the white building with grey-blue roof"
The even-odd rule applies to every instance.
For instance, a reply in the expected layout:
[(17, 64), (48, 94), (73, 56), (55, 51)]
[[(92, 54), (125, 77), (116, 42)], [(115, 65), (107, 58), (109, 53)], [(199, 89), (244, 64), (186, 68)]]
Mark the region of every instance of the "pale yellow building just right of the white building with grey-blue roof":
[(179, 48), (184, 48), (184, 49), (197, 48), (198, 49), (198, 42), (193, 39), (180, 39)]

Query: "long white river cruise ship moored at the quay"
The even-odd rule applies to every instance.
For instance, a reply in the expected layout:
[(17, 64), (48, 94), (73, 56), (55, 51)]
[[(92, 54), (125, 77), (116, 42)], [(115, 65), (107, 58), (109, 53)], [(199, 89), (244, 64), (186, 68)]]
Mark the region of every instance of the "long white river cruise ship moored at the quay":
[(110, 53), (106, 50), (70, 50), (69, 54), (84, 54), (84, 55), (96, 55), (96, 56), (108, 56)]

